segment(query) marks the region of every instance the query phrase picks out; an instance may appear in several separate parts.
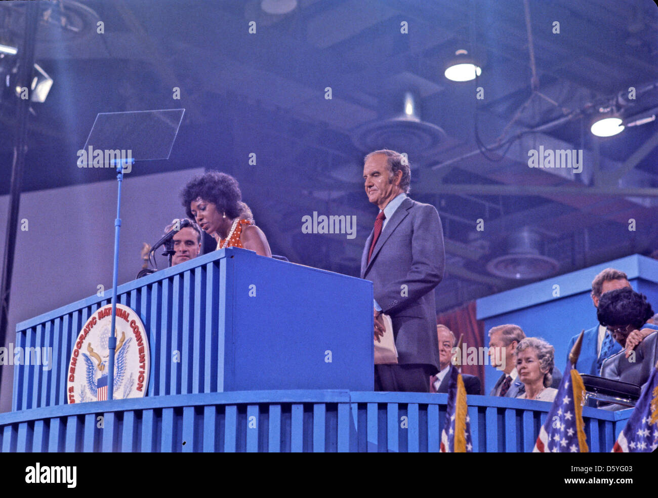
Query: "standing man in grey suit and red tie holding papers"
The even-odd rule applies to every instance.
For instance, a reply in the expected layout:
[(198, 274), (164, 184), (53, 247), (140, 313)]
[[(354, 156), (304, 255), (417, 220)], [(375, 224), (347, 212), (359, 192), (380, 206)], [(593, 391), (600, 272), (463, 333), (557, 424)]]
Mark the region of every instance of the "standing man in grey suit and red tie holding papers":
[(407, 197), (411, 169), (400, 153), (368, 154), (363, 179), (380, 212), (363, 249), (361, 278), (374, 288), (374, 338), (384, 333), (381, 314), (390, 315), (398, 354), (398, 364), (375, 365), (374, 387), (428, 393), (439, 371), (434, 287), (445, 262), (441, 220), (434, 206)]

